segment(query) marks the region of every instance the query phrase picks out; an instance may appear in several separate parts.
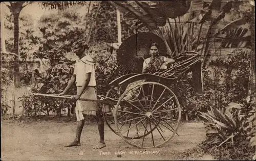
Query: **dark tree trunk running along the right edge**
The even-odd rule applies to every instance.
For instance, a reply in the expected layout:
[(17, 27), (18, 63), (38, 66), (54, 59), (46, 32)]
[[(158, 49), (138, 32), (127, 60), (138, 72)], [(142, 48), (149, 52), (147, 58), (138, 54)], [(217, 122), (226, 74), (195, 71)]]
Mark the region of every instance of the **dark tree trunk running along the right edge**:
[[(254, 6), (252, 7), (252, 11), (254, 11)], [(247, 100), (251, 100), (255, 102), (255, 18), (254, 12), (252, 12), (253, 16), (251, 16), (251, 53), (250, 53), (250, 76), (249, 76), (249, 88), (248, 88), (248, 96)]]

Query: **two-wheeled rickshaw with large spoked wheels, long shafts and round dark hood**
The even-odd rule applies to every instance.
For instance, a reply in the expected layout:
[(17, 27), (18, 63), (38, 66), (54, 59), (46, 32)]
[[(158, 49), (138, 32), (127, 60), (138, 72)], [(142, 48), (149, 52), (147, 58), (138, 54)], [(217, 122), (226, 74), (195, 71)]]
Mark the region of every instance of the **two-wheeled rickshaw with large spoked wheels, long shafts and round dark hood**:
[(131, 64), (123, 62), (133, 57), (137, 65), (135, 70), (114, 79), (108, 92), (98, 95), (98, 100), (81, 99), (101, 103), (106, 125), (127, 144), (137, 148), (159, 147), (178, 135), (181, 106), (176, 84), (180, 81), (179, 75), (192, 73), (195, 93), (203, 93), (201, 58), (194, 51), (180, 53), (173, 58), (176, 64), (163, 71), (141, 73), (141, 58), (148, 57), (147, 48), (152, 42), (160, 44), (162, 55), (167, 53), (163, 40), (155, 34), (139, 33), (123, 41), (117, 50), (118, 65), (127, 69)]

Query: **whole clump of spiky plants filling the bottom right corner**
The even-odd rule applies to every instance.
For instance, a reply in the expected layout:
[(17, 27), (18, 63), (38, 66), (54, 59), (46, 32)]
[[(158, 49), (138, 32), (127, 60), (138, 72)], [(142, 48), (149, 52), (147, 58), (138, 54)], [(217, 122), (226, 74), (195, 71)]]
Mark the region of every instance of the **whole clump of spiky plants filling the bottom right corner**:
[[(215, 151), (230, 147), (231, 149), (237, 149), (238, 152), (240, 151), (242, 157), (252, 158), (255, 152), (255, 147), (253, 147), (255, 145), (253, 142), (255, 139), (255, 124), (253, 124), (253, 122), (255, 123), (255, 106), (252, 104), (231, 102), (227, 108), (211, 108), (207, 113), (201, 113), (200, 116), (207, 120), (207, 139), (204, 147), (215, 149)], [(228, 155), (231, 159), (241, 157), (238, 154), (230, 155), (227, 150), (225, 152), (225, 155)], [(221, 154), (222, 152), (217, 153)], [(221, 157), (221, 155), (218, 157)]]

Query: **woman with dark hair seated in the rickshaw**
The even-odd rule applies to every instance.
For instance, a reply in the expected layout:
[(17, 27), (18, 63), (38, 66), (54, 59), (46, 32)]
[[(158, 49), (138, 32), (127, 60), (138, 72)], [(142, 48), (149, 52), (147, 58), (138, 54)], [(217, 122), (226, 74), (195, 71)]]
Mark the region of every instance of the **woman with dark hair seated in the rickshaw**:
[[(152, 43), (150, 46), (150, 58), (147, 58), (144, 60), (143, 67), (142, 67), (142, 73), (155, 73), (160, 70), (164, 70), (167, 68), (167, 65), (172, 64), (175, 62), (175, 60), (166, 58), (159, 55), (159, 46), (157, 43)], [(133, 82), (129, 84), (125, 90), (129, 89), (130, 87), (137, 85), (141, 82), (144, 82), (145, 80), (139, 80), (136, 82)], [(133, 89), (133, 91), (129, 91), (126, 93), (124, 100), (131, 100), (134, 98), (134, 94), (139, 94), (140, 92), (140, 86), (137, 86)]]

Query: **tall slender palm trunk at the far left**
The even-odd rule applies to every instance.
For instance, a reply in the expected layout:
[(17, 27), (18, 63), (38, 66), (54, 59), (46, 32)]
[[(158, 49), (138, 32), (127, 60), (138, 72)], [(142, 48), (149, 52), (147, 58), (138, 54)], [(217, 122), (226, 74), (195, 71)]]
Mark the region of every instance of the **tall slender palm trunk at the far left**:
[(18, 49), (19, 13), (13, 14), (13, 17), (14, 17), (14, 49), (15, 49), (15, 54), (16, 54), (16, 57), (14, 58), (14, 86), (15, 87), (20, 87), (19, 49)]

